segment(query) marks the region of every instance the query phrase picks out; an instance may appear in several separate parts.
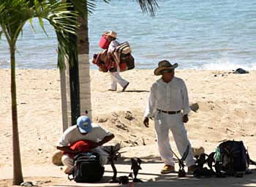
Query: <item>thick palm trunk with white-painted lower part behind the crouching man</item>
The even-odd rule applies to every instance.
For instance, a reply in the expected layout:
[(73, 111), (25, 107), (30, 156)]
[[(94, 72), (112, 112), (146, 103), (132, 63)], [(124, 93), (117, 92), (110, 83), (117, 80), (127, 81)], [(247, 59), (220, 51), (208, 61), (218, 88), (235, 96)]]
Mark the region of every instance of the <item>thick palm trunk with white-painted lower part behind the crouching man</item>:
[[(87, 8), (86, 8), (87, 9)], [(89, 37), (88, 37), (88, 14), (84, 18), (78, 18), (78, 64), (79, 64), (79, 82), (80, 82), (80, 115), (91, 113), (91, 80), (89, 64)]]

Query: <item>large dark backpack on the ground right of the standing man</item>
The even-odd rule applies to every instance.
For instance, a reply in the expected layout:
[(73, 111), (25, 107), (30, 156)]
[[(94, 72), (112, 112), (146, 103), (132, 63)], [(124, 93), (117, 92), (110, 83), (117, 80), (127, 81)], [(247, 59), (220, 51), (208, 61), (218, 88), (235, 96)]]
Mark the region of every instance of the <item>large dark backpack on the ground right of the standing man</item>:
[(220, 160), (216, 162), (217, 173), (226, 175), (243, 175), (249, 167), (248, 158), (243, 141), (228, 140), (219, 145)]

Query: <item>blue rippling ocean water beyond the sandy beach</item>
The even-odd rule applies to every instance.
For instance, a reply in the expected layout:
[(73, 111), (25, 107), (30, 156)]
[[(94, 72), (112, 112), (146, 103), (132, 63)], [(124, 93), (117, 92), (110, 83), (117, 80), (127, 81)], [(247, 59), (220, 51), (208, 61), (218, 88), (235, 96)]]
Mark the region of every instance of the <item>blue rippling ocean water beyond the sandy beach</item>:
[[(89, 16), (90, 58), (102, 49), (103, 31), (114, 30), (119, 42), (129, 42), (135, 68), (154, 69), (158, 61), (178, 63), (178, 69), (256, 69), (256, 1), (160, 0), (157, 15), (141, 12), (135, 1), (97, 1)], [(56, 36), (45, 22), (46, 36), (34, 20), (17, 42), (16, 67), (54, 69)], [(0, 68), (10, 68), (7, 41), (0, 40)], [(91, 64), (91, 69), (97, 66)]]

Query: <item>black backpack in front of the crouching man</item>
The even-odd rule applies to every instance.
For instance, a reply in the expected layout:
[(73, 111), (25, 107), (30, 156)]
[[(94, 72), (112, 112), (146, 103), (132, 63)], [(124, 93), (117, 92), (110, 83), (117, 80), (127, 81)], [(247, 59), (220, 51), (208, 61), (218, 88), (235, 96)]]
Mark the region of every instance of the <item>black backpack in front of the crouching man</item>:
[(80, 153), (74, 157), (70, 175), (77, 183), (94, 183), (102, 179), (105, 168), (99, 163), (98, 153)]

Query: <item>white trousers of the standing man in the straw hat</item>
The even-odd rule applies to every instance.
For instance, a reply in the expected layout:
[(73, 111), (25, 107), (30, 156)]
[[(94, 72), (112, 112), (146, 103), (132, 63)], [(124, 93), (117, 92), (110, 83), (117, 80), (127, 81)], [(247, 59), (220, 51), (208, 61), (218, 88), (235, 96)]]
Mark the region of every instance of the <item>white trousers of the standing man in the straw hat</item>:
[[(187, 138), (187, 130), (182, 122), (182, 114), (167, 114), (164, 112), (157, 111), (154, 116), (155, 129), (157, 132), (157, 144), (159, 149), (159, 154), (167, 165), (174, 166), (173, 153), (170, 151), (170, 139), (169, 139), (169, 129), (173, 133), (173, 139), (176, 142), (178, 152), (180, 154), (180, 159), (187, 145), (189, 145), (189, 153), (187, 159), (185, 160), (187, 167), (195, 164), (195, 159), (193, 159), (193, 153), (191, 144)], [(176, 153), (178, 156), (178, 154)]]

